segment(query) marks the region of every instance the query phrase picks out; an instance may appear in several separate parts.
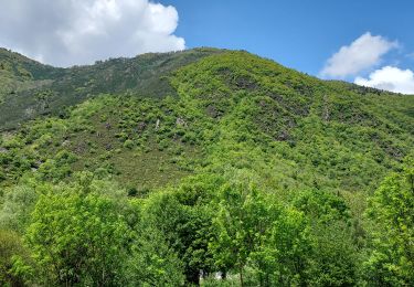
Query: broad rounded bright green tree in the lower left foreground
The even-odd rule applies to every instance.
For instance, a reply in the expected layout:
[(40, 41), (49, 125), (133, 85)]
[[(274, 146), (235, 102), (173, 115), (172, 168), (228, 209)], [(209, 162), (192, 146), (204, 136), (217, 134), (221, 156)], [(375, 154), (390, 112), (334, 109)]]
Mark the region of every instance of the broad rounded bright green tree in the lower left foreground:
[(109, 199), (63, 189), (40, 196), (25, 242), (45, 284), (109, 286), (121, 280), (128, 233)]

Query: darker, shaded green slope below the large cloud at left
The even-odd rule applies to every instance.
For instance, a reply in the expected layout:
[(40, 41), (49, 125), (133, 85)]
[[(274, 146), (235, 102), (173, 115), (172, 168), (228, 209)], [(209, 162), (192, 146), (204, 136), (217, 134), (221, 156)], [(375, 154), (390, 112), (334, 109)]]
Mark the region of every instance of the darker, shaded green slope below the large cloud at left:
[[(131, 93), (147, 97), (173, 94), (164, 76), (180, 66), (220, 52), (215, 49), (195, 49), (55, 68), (2, 50), (0, 130), (13, 128), (38, 115), (56, 115), (65, 107), (99, 93)], [(4, 68), (1, 70), (2, 66)]]

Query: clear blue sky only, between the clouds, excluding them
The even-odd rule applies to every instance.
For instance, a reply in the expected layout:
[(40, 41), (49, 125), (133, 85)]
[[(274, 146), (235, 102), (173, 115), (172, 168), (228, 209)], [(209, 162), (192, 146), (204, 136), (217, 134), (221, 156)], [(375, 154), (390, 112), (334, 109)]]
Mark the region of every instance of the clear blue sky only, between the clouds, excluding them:
[(401, 43), (385, 56), (414, 68), (411, 0), (164, 0), (180, 15), (177, 34), (188, 47), (244, 49), (317, 75), (325, 61), (365, 32)]

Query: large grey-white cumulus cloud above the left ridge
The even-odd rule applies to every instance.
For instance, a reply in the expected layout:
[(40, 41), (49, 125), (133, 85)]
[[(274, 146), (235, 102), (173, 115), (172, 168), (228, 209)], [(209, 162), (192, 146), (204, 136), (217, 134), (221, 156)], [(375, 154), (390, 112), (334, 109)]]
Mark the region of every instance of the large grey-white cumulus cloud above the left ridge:
[(0, 45), (68, 66), (183, 50), (174, 7), (149, 0), (0, 0)]

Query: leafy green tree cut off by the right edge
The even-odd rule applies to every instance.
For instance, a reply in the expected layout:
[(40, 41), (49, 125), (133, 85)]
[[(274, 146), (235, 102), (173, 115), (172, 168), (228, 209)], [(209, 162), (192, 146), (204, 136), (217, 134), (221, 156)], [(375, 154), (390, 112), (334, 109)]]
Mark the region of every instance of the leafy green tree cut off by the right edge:
[(364, 267), (372, 285), (414, 285), (413, 167), (413, 160), (407, 160), (403, 172), (386, 177), (371, 199), (368, 215), (376, 226)]

